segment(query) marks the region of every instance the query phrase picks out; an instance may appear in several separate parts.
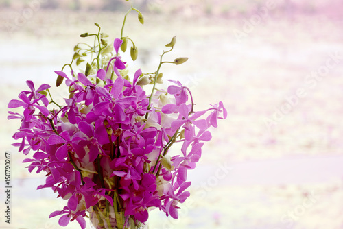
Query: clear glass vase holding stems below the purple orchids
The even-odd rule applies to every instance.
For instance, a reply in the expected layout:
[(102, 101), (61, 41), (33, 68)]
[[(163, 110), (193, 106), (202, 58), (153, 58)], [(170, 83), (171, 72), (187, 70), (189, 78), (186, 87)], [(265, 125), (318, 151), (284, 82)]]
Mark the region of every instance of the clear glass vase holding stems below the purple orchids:
[(91, 229), (149, 229), (147, 222), (134, 221), (131, 215), (125, 217), (123, 212), (115, 212), (113, 207), (95, 210), (90, 213)]

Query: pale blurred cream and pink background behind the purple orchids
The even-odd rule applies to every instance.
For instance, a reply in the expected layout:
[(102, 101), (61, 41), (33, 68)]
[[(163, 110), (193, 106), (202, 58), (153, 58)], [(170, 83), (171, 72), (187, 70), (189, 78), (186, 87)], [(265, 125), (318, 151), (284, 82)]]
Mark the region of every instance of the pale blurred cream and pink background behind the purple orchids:
[[(180, 218), (154, 210), (150, 228), (343, 228), (343, 2), (130, 2), (145, 16), (144, 25), (134, 12), (127, 19), (124, 36), (139, 49), (135, 62), (126, 58), (130, 73), (155, 71), (177, 36), (166, 58), (189, 60), (164, 66), (165, 80), (189, 86), (198, 110), (217, 101), (228, 110), (189, 173), (191, 197)], [(129, 7), (123, 0), (0, 0), (0, 165), (10, 152), (13, 187), (12, 224), (1, 216), (0, 228), (61, 228), (48, 217), (66, 204), (51, 190), (36, 191), (44, 174), (28, 173), (25, 155), (11, 146), (19, 122), (7, 120), (8, 101), (25, 80), (54, 85), (74, 45), (93, 42), (79, 35), (96, 32), (95, 22), (111, 40), (119, 37)]]

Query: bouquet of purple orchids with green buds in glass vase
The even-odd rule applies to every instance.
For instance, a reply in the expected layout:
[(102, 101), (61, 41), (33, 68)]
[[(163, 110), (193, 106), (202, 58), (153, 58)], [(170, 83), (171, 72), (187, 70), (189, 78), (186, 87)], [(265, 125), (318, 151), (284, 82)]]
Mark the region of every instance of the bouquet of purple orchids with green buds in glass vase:
[[(194, 169), (204, 142), (211, 140), (209, 128), (217, 127), (217, 119), (225, 119), (226, 110), (219, 102), (207, 110), (197, 111), (191, 91), (181, 82), (157, 88), (162, 83), (163, 64), (182, 64), (188, 58), (163, 61), (165, 53), (176, 44), (176, 37), (165, 45), (156, 71), (135, 71), (128, 76), (128, 64), (120, 56), (132, 43), (130, 56), (136, 60), (138, 49), (128, 36), (113, 45), (101, 31), (81, 34), (95, 38), (95, 45), (79, 43), (72, 61), (65, 64), (56, 86), (65, 80), (69, 97), (58, 104), (51, 96), (51, 86), (35, 88), (27, 81), (29, 91), (22, 91), (8, 108), (22, 107), (23, 114), (9, 112), (8, 119), (21, 119), (19, 131), (13, 136), (19, 152), (34, 152), (29, 172), (47, 173), (45, 184), (38, 189), (51, 188), (67, 206), (51, 213), (62, 215), (60, 226), (76, 220), (86, 227), (84, 217), (90, 217), (95, 228), (139, 227), (148, 219), (153, 208), (178, 218), (178, 203), (185, 202), (191, 182), (187, 170)], [(114, 54), (113, 54), (114, 53)], [(84, 64), (85, 59), (89, 62)], [(76, 72), (75, 65), (85, 70)], [(70, 74), (64, 68), (71, 69)], [(150, 85), (149, 85), (150, 84)], [(145, 92), (146, 88), (151, 93)], [(169, 155), (174, 144), (182, 144), (178, 155)]]

